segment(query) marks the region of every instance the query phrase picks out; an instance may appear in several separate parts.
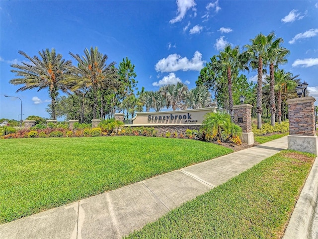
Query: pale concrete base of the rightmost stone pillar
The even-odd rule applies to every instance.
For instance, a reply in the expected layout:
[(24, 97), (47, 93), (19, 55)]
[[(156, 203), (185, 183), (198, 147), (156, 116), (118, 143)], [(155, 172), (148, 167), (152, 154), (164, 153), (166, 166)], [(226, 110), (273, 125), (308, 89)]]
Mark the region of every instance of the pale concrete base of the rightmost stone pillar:
[(317, 136), (288, 135), (288, 149), (318, 154)]

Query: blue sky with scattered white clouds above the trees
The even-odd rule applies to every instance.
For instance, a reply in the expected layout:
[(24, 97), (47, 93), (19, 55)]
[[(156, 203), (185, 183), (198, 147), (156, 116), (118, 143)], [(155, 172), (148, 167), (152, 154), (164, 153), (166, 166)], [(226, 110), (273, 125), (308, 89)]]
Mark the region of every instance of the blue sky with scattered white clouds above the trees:
[[(291, 51), (285, 71), (309, 83), (318, 105), (318, 1), (290, 0), (109, 0), (0, 1), (0, 119), (49, 118), (46, 90), (15, 93), (10, 64), (55, 48), (69, 52), (97, 46), (108, 64), (126, 56), (135, 64), (138, 87), (158, 90), (182, 81), (195, 86), (200, 70), (229, 43), (249, 44), (257, 34), (274, 31)], [(75, 62), (73, 60), (73, 62)], [(250, 81), (256, 71), (244, 72)]]

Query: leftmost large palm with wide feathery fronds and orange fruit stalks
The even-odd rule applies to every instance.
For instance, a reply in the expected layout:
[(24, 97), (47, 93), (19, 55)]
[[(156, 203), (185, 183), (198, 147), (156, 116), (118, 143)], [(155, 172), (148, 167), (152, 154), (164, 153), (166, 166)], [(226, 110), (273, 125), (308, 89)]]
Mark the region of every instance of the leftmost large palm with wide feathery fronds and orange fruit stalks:
[(13, 85), (24, 85), (16, 92), (35, 88), (38, 88), (38, 91), (40, 91), (48, 88), (52, 101), (51, 117), (52, 119), (56, 119), (58, 91), (62, 90), (66, 92), (68, 89), (62, 80), (69, 74), (72, 61), (62, 59), (62, 55), (56, 54), (54, 48), (51, 51), (46, 48), (38, 53), (40, 58), (37, 56), (30, 57), (25, 52), (19, 51), (19, 54), (27, 58), (30, 63), (12, 64), (11, 67), (15, 69), (12, 69), (11, 72), (20, 78), (11, 79), (10, 83)]

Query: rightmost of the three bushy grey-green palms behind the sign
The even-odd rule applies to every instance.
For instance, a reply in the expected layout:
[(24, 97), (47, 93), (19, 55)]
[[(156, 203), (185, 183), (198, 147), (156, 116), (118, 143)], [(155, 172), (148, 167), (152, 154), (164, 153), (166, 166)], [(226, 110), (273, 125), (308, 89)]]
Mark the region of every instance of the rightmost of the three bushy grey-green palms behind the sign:
[(212, 102), (209, 89), (205, 85), (198, 85), (185, 93), (183, 104), (181, 104), (179, 108), (198, 109), (211, 107), (213, 105), (215, 105), (215, 103)]

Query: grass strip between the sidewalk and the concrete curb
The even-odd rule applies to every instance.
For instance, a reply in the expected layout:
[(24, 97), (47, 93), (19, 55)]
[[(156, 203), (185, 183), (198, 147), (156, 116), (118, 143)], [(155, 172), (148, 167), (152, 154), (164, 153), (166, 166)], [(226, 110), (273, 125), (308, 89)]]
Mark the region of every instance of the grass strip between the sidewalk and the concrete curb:
[(127, 238), (280, 239), (314, 160), (282, 151)]

